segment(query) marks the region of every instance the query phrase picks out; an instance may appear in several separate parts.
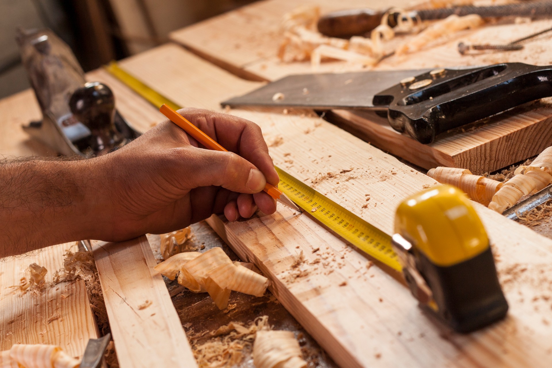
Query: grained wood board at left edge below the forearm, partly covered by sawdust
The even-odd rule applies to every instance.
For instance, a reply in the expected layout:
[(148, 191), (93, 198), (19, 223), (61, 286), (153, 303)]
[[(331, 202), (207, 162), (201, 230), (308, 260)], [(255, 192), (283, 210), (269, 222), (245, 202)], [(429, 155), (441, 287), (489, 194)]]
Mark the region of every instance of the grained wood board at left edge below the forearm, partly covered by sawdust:
[(68, 249), (74, 252), (76, 243), (0, 259), (0, 350), (8, 350), (13, 344), (55, 344), (81, 358), (88, 339), (98, 338), (83, 280), (61, 282), (39, 294), (21, 295), (10, 288), (19, 285), (31, 263), (46, 267), (46, 281), (52, 281)]

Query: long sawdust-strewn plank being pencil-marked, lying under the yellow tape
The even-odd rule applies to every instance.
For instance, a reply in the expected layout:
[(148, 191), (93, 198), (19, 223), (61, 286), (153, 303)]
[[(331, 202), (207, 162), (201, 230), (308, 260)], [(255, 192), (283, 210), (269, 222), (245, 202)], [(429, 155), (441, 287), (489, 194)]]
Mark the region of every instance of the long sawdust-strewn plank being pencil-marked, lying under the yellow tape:
[[(172, 87), (184, 84), (190, 73), (216, 70), (201, 64), (190, 71), (185, 60), (194, 58), (180, 54), (178, 69), (157, 63), (148, 70), (146, 65), (154, 65), (151, 55), (137, 56), (127, 66), (144, 65), (138, 77), (149, 78), (151, 87), (179, 103), (216, 92), (215, 83), (193, 90)], [(163, 76), (160, 71), (167, 72)], [(275, 164), (386, 233), (392, 232), (399, 202), (435, 184), (317, 117), (231, 113), (261, 126)], [(243, 260), (262, 269), (273, 281), (274, 295), (343, 367), (545, 366), (552, 353), (552, 241), (476, 207), (492, 239), (511, 310), (505, 321), (468, 335), (438, 328), (404, 285), (376, 266), (368, 268), (363, 254), (306, 214), (279, 208), (272, 216), (226, 225), (211, 218), (210, 223)], [(313, 253), (315, 248), (320, 250)], [(299, 274), (291, 265), (301, 250), (306, 262)]]

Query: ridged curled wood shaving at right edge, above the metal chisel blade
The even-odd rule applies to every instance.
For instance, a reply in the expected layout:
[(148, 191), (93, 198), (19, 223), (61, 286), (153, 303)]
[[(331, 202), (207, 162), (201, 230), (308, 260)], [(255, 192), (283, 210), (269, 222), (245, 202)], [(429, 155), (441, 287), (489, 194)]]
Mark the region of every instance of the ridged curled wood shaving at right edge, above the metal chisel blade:
[(552, 182), (552, 147), (546, 148), (530, 166), (520, 166), (493, 196), (489, 208), (502, 213), (524, 195), (534, 194)]

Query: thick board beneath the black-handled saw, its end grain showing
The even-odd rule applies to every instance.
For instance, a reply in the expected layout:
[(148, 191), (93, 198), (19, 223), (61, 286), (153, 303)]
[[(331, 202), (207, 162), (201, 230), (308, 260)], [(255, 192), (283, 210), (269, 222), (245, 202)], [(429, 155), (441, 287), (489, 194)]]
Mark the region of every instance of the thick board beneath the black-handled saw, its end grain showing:
[[(312, 73), (309, 62), (282, 63), (276, 54), (280, 35), (278, 27), (282, 15), (301, 4), (320, 4), (322, 13), (339, 9), (365, 7), (357, 1), (333, 2), (266, 0), (240, 10), (211, 18), (174, 31), (171, 39), (198, 55), (246, 78), (274, 81), (289, 74)], [(405, 7), (410, 2), (395, 0), (394, 6)], [(371, 8), (389, 7), (389, 3), (372, 2)], [(544, 46), (545, 34), (526, 43), (522, 51), (481, 53), (461, 56), (459, 41), (485, 44), (489, 40), (508, 43), (523, 35), (549, 28), (552, 21), (542, 20), (527, 24), (488, 25), (481, 29), (461, 31), (444, 41), (434, 42), (422, 51), (405, 56), (391, 56), (380, 62), (375, 70), (413, 69), (459, 65), (486, 65), (505, 61), (521, 61), (547, 65), (552, 53)], [(359, 71), (363, 68), (344, 62), (322, 63), (316, 72)], [(532, 110), (533, 111), (530, 111)], [(452, 166), (468, 168), (474, 173), (491, 172), (523, 159), (535, 156), (552, 145), (548, 129), (552, 108), (543, 104), (538, 108), (522, 107), (512, 113), (477, 124), (465, 131), (456, 130), (440, 135), (431, 145), (422, 145), (402, 135), (375, 115), (335, 111), (340, 124), (365, 141), (424, 167)], [(534, 139), (538, 136), (538, 139)]]

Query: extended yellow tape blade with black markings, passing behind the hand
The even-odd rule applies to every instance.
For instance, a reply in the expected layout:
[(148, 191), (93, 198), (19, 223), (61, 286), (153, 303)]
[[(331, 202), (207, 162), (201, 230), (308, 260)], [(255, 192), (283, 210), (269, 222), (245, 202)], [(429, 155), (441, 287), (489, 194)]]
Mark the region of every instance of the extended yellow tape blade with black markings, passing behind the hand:
[[(121, 69), (116, 62), (110, 63), (105, 69), (157, 108), (162, 104), (170, 105), (175, 110), (182, 108)], [(295, 179), (284, 170), (278, 167), (276, 167), (276, 170), (280, 176), (278, 188), (298, 206), (371, 257), (392, 269), (402, 270), (397, 255), (391, 248), (391, 237), (388, 234), (310, 188), (301, 180)]]

